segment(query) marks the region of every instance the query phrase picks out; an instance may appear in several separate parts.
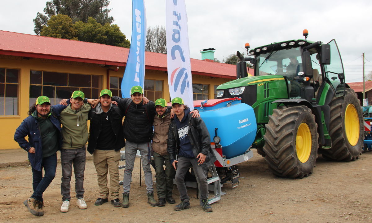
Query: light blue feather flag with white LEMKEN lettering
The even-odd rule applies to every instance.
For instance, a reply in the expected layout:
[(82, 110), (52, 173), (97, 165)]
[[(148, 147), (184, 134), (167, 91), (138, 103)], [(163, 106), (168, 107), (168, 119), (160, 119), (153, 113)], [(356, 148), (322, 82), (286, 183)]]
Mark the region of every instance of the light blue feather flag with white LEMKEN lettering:
[(132, 0), (132, 39), (128, 60), (121, 82), (123, 98), (130, 98), (131, 87), (144, 87), (145, 82), (145, 41), (146, 41), (146, 10), (143, 0)]

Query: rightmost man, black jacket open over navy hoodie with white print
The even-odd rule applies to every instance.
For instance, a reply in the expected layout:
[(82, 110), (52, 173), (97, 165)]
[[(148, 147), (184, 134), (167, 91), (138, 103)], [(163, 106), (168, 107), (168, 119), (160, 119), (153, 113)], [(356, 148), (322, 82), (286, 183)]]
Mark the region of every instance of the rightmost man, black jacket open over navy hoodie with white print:
[(172, 107), (176, 117), (169, 126), (167, 151), (170, 162), (177, 170), (175, 179), (181, 200), (180, 204), (174, 206), (174, 210), (180, 211), (190, 208), (185, 174), (192, 165), (193, 171), (198, 177), (201, 206), (204, 211), (211, 212), (205, 170), (217, 159), (211, 149), (208, 129), (201, 118), (193, 118), (189, 115), (190, 109), (184, 105), (182, 98), (173, 98)]

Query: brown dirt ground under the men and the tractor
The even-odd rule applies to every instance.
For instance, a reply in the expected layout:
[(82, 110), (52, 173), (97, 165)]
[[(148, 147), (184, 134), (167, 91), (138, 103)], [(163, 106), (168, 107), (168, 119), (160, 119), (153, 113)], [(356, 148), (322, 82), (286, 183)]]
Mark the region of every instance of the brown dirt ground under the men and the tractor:
[[(192, 188), (189, 189), (192, 207), (188, 210), (174, 211), (171, 204), (151, 207), (147, 204), (143, 177), (140, 187), (139, 159), (135, 164), (129, 208), (115, 208), (110, 203), (94, 206), (99, 189), (93, 162), (87, 160), (84, 188), (88, 208), (80, 210), (71, 192), (70, 211), (61, 213), (58, 164), (56, 177), (44, 193), (46, 207), (42, 217), (33, 216), (23, 205), (32, 194), (31, 167), (0, 168), (0, 222), (372, 222), (371, 161), (372, 152), (363, 153), (355, 162), (330, 162), (320, 155), (312, 175), (286, 179), (273, 176), (254, 150), (252, 159), (238, 165), (242, 177), (239, 186), (231, 188), (230, 184), (224, 184), (222, 189), (226, 194), (212, 204), (212, 213), (202, 211)], [(121, 178), (123, 172), (121, 169)], [(174, 198), (178, 203), (176, 187)]]

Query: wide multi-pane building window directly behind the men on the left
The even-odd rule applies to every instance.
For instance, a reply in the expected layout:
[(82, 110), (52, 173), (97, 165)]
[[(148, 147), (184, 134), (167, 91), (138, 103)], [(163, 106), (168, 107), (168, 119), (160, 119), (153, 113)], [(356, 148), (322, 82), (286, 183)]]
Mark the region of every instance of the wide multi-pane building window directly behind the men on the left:
[(89, 74), (70, 74), (49, 71), (30, 71), (30, 106), (41, 95), (55, 105), (61, 99), (71, 98), (72, 92), (81, 90), (86, 98), (98, 98), (102, 77)]

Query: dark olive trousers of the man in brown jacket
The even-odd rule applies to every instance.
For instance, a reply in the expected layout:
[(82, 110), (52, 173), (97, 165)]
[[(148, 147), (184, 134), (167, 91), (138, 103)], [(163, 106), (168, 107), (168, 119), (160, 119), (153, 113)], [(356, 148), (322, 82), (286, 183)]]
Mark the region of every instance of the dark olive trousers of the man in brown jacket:
[[(156, 188), (158, 198), (172, 197), (173, 194), (173, 178), (176, 171), (169, 162), (169, 155), (160, 155), (154, 152), (154, 163), (156, 172)], [(165, 163), (165, 171), (164, 171)]]

